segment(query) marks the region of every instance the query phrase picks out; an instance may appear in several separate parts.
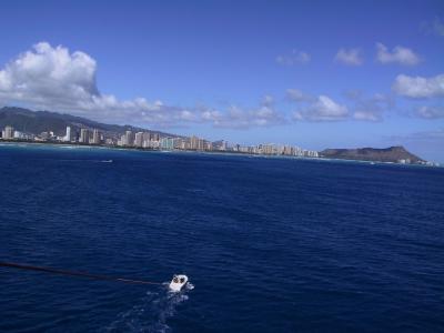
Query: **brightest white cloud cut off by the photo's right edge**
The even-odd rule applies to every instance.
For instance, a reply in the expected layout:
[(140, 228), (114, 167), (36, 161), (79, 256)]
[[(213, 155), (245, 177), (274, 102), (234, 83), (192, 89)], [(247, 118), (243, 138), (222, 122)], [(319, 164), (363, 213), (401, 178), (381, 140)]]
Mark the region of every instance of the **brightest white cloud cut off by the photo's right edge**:
[(400, 95), (413, 99), (444, 95), (444, 74), (433, 78), (400, 74), (396, 77), (392, 89)]

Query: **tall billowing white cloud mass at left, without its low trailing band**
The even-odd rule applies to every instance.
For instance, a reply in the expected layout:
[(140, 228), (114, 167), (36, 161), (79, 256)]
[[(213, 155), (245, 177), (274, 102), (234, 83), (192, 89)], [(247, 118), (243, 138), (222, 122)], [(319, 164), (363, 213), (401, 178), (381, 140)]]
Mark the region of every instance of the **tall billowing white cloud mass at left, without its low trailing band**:
[(95, 61), (83, 52), (72, 54), (62, 47), (41, 42), (0, 71), (0, 93), (12, 99), (63, 103), (99, 95)]

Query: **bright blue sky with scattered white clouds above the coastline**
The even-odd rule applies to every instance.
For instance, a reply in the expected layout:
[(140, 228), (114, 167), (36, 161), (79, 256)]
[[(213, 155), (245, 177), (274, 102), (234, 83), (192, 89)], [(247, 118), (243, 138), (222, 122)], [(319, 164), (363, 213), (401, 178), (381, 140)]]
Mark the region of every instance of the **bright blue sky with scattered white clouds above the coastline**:
[(2, 1), (0, 11), (0, 104), (245, 144), (404, 144), (444, 162), (443, 1)]

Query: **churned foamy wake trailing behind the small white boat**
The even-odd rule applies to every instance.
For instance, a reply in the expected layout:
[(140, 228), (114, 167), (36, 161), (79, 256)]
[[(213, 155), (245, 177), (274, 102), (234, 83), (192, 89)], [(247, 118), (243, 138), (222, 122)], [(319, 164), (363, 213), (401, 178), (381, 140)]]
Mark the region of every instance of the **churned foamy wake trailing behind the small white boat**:
[(158, 292), (147, 292), (132, 309), (118, 314), (103, 332), (171, 332), (168, 320), (174, 316), (176, 306), (185, 302), (186, 292), (194, 289), (188, 283), (182, 292), (170, 292), (168, 284)]

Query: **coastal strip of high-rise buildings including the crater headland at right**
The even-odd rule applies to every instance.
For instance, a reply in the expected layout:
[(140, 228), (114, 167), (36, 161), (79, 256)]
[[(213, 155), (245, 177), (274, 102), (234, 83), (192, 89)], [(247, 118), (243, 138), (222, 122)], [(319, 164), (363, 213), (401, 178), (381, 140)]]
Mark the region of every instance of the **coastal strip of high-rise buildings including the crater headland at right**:
[[(1, 111), (1, 110), (0, 110)], [(28, 111), (31, 112), (32, 111)], [(79, 120), (80, 118), (78, 118)], [(98, 125), (103, 125), (97, 123)], [(48, 124), (44, 124), (48, 128)], [(97, 128), (79, 127), (78, 130), (71, 131), (71, 125), (65, 127), (64, 135), (56, 135), (54, 131), (44, 131), (40, 134), (31, 132), (21, 132), (11, 125), (4, 127), (1, 131), (0, 140), (6, 142), (26, 142), (26, 143), (64, 143), (81, 145), (102, 145), (108, 148), (139, 149), (151, 151), (198, 151), (198, 152), (219, 152), (219, 153), (241, 153), (249, 155), (275, 155), (275, 157), (294, 157), (310, 159), (340, 159), (354, 160), (361, 162), (398, 163), (398, 164), (416, 164), (427, 167), (440, 167), (440, 163), (426, 161), (415, 154), (406, 151), (403, 147), (389, 147), (385, 149), (325, 149), (323, 151), (313, 151), (302, 149), (297, 145), (260, 143), (256, 145), (242, 145), (239, 143), (230, 143), (224, 140), (209, 141), (195, 135), (176, 137), (168, 133), (150, 132), (143, 129), (124, 130), (110, 133), (108, 131), (99, 131)], [(60, 133), (60, 130), (59, 130)]]

